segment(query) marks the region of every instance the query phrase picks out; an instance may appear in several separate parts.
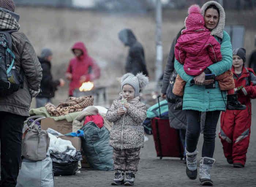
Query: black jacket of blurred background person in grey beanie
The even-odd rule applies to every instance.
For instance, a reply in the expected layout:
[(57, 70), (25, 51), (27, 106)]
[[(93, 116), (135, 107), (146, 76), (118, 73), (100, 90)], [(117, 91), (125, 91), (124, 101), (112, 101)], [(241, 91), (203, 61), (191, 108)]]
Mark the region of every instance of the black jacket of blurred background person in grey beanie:
[(60, 85), (60, 81), (53, 80), (51, 73), (51, 63), (44, 58), (38, 59), (43, 69), (43, 78), (41, 81), (41, 93), (39, 93), (37, 97), (52, 98), (54, 97), (54, 92), (57, 90), (57, 86)]

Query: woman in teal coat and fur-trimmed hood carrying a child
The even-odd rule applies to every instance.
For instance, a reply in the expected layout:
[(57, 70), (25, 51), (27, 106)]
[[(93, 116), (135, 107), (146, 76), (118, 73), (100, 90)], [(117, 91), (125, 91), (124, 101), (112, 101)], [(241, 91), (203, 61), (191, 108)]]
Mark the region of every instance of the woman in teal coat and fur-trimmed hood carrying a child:
[[(215, 162), (215, 159), (212, 157), (215, 148), (216, 127), (220, 112), (226, 110), (227, 94), (226, 91), (221, 90), (219, 81), (215, 81), (214, 79), (206, 80), (205, 75), (214, 74), (214, 76), (217, 77), (226, 71), (230, 71), (232, 66), (232, 47), (230, 37), (227, 32), (224, 31), (225, 11), (221, 4), (216, 1), (208, 1), (202, 6), (201, 13), (204, 18), (204, 26), (210, 30), (211, 35), (221, 44), (220, 51), (222, 60), (219, 62), (214, 61), (215, 63), (209, 65), (207, 69), (202, 70), (201, 73), (196, 76), (187, 74), (184, 70), (185, 65), (177, 59), (174, 62), (174, 67), (179, 76), (186, 82), (182, 106), (182, 109), (186, 112), (187, 118), (186, 174), (189, 179), (194, 180), (197, 178), (198, 151), (196, 148), (200, 132), (203, 131), (204, 142), (199, 166), (199, 180), (203, 186), (212, 186), (213, 182), (210, 172)], [(200, 57), (198, 58), (198, 61), (199, 60)], [(207, 89), (208, 87), (211, 88)], [(231, 96), (234, 97), (234, 99), (237, 98), (236, 94), (231, 94)], [(238, 101), (234, 103), (234, 106), (244, 108)], [(204, 127), (202, 129), (200, 127), (201, 112), (206, 112)]]

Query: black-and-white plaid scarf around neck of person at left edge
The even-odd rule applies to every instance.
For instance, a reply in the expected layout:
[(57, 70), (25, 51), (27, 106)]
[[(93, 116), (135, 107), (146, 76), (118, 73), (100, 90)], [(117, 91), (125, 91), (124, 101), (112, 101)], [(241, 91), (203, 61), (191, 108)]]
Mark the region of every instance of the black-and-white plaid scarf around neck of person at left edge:
[(0, 30), (19, 30), (20, 25), (10, 13), (0, 11)]

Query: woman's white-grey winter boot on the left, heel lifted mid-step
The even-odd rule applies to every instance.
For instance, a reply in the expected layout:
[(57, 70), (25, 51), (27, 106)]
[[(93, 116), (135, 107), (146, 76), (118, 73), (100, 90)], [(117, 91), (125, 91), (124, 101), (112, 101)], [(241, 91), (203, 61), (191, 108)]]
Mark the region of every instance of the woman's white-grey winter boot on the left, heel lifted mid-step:
[(192, 153), (186, 150), (186, 174), (189, 179), (195, 180), (197, 178), (197, 155), (198, 151), (194, 151)]

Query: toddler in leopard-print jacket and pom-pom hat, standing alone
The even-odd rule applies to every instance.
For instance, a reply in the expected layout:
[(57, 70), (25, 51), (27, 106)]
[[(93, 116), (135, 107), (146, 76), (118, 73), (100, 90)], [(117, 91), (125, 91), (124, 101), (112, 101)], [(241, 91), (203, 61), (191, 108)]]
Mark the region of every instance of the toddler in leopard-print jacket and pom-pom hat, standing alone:
[(139, 91), (147, 84), (148, 78), (142, 73), (123, 75), (120, 98), (113, 101), (106, 113), (106, 119), (114, 122), (109, 140), (115, 172), (112, 185), (134, 185), (140, 148), (144, 145), (142, 122), (146, 119), (146, 105), (140, 102)]

